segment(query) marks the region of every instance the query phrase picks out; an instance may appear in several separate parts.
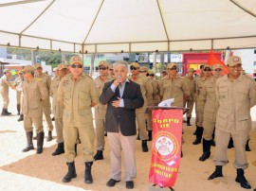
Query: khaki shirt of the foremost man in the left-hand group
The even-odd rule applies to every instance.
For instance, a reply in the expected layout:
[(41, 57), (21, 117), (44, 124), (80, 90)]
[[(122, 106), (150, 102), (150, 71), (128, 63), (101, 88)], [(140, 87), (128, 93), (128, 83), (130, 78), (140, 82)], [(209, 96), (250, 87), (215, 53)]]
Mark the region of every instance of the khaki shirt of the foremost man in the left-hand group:
[(39, 78), (30, 81), (24, 80), (23, 113), (25, 117), (38, 117), (43, 115), (43, 101), (48, 97), (45, 83)]

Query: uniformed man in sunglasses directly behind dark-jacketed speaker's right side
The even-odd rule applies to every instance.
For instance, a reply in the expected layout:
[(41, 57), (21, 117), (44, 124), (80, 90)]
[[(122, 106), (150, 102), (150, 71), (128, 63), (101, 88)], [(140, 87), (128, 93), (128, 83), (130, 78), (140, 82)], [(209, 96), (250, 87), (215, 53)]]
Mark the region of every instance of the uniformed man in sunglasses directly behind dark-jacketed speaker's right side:
[(140, 66), (137, 62), (131, 63), (130, 70), (131, 70), (132, 76), (129, 79), (137, 82), (140, 85), (140, 90), (144, 98), (143, 107), (136, 110), (136, 119), (137, 119), (138, 135), (139, 135), (138, 137), (140, 140), (142, 140), (141, 141), (142, 151), (147, 152), (149, 151), (149, 148), (147, 145), (147, 140), (149, 139), (149, 137), (148, 137), (147, 127), (145, 124), (145, 120), (146, 120), (145, 112), (148, 106), (147, 98), (152, 96), (153, 87), (150, 84), (150, 81), (148, 80), (148, 78), (139, 74), (139, 68)]

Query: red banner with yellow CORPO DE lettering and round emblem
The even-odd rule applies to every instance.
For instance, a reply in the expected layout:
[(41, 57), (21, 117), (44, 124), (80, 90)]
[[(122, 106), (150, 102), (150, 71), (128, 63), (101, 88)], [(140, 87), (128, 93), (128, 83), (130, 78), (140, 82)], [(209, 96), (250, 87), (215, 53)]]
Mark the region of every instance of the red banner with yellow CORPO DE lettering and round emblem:
[(149, 181), (162, 187), (174, 186), (181, 152), (181, 109), (153, 110), (152, 160)]

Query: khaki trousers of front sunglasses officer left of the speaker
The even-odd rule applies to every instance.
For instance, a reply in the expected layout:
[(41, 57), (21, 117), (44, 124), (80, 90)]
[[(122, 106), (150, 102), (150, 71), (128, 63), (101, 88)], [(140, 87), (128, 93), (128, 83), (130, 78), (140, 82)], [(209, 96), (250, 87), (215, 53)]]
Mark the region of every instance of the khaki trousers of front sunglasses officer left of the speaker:
[(75, 160), (75, 144), (78, 140), (78, 134), (82, 144), (83, 161), (92, 162), (94, 151), (94, 128), (92, 121), (83, 124), (82, 127), (68, 126), (64, 124), (64, 157), (67, 163)]

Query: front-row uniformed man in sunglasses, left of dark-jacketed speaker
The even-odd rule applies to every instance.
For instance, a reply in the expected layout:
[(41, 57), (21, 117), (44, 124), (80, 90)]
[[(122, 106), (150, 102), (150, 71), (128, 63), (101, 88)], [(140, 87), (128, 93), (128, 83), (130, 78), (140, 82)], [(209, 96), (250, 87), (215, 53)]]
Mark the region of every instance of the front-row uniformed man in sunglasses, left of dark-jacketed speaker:
[(57, 93), (58, 101), (64, 104), (64, 157), (68, 172), (63, 182), (70, 182), (77, 177), (74, 146), (79, 134), (85, 165), (84, 182), (92, 183), (91, 167), (95, 134), (91, 107), (98, 103), (99, 97), (97, 97), (93, 79), (83, 74), (81, 57), (71, 58), (69, 70), (70, 75), (61, 80)]

